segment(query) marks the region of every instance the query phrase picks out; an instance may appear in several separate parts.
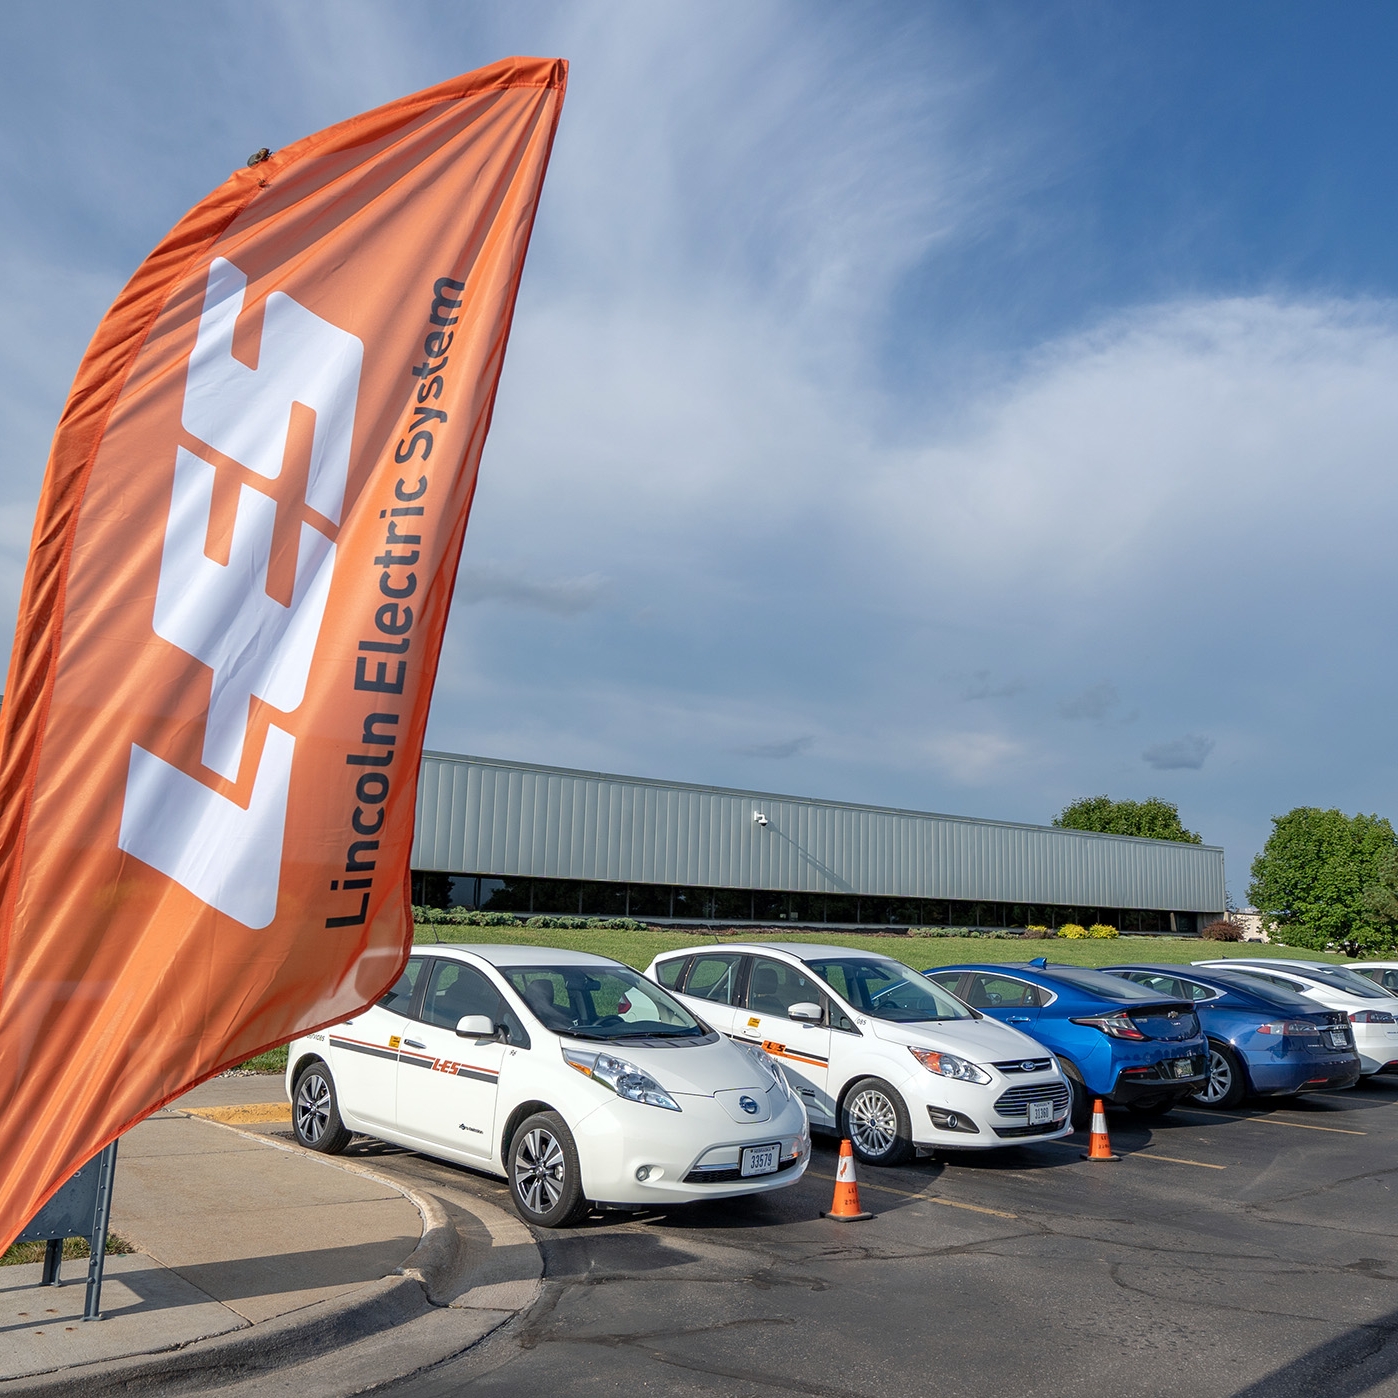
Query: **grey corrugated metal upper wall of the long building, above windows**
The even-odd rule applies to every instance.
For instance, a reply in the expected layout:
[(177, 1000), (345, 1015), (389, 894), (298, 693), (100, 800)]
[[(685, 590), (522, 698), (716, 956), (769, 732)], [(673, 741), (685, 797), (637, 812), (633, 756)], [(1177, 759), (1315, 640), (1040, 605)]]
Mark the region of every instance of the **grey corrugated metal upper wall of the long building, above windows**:
[(1223, 850), (1212, 844), (447, 752), (422, 759), (412, 867), (1068, 907), (1225, 906)]

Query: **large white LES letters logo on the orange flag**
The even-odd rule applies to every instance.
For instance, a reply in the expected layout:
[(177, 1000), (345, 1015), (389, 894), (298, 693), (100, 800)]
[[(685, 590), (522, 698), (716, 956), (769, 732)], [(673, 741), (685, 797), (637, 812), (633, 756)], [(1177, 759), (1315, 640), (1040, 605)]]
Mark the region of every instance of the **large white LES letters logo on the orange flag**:
[[(267, 480), (281, 474), (292, 404), (315, 412), (305, 503), (340, 523), (363, 345), (274, 291), (263, 315), (257, 368), (233, 358), (247, 278), (222, 257), (208, 270), (189, 356), (182, 421), (215, 452)], [(185, 447), (155, 594), (155, 633), (212, 671), (203, 762), (238, 780), (253, 696), (284, 713), (306, 692), (330, 593), (336, 545), (301, 523), (291, 605), (267, 593), (277, 502), (242, 485), (228, 563), (204, 552), (215, 468)], [(246, 927), (277, 914), (281, 843), (295, 738), (270, 724), (246, 809), (131, 745), (117, 844)]]

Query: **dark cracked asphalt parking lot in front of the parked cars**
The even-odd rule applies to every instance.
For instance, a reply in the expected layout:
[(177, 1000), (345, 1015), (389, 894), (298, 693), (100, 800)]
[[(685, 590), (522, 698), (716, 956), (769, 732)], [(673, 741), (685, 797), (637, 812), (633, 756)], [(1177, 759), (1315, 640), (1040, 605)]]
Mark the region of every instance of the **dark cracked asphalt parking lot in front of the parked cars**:
[[(538, 1303), (386, 1390), (537, 1394), (1398, 1394), (1398, 1081), (541, 1234)], [(503, 1202), (393, 1146), (380, 1169)]]

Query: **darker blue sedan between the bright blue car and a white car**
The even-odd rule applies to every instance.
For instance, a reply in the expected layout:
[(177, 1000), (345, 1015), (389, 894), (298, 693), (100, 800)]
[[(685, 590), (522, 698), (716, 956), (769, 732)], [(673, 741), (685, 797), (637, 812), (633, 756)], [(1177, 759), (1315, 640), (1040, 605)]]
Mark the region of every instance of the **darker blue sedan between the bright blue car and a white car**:
[(1219, 966), (1109, 966), (1156, 995), (1192, 1002), (1209, 1040), (1209, 1081), (1195, 1100), (1236, 1107), (1248, 1093), (1352, 1088), (1359, 1081), (1355, 1035), (1342, 1009)]

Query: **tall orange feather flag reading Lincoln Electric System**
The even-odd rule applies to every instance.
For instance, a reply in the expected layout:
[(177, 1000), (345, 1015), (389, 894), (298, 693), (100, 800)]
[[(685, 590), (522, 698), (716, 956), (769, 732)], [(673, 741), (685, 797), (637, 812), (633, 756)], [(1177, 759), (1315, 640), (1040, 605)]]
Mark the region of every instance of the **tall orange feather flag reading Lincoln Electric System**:
[(507, 59), (250, 162), (98, 327), (0, 714), (0, 1247), (407, 956), (428, 703), (566, 73)]

